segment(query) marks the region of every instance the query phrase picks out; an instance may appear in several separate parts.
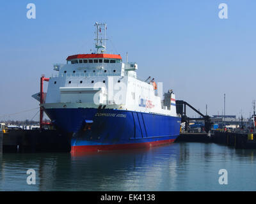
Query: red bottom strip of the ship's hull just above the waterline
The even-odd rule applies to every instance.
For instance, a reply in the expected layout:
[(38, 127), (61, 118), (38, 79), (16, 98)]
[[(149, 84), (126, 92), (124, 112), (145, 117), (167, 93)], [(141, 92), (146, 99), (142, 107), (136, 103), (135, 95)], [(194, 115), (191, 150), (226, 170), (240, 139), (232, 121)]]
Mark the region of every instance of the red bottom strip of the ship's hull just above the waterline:
[(109, 150), (122, 150), (122, 149), (139, 149), (139, 148), (150, 148), (159, 145), (165, 145), (173, 143), (175, 139), (170, 140), (159, 140), (155, 142), (143, 142), (143, 143), (129, 143), (129, 144), (117, 144), (117, 145), (83, 145), (83, 146), (72, 146), (71, 153), (83, 153), (83, 152), (98, 152), (98, 151), (109, 151)]

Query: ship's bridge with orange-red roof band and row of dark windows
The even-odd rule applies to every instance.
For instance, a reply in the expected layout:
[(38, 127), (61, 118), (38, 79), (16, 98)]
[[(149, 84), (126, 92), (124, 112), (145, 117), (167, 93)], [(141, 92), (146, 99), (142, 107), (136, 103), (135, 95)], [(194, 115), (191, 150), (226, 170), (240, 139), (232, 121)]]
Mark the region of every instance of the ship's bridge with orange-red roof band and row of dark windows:
[(122, 57), (115, 54), (77, 54), (67, 57), (67, 64), (121, 63)]

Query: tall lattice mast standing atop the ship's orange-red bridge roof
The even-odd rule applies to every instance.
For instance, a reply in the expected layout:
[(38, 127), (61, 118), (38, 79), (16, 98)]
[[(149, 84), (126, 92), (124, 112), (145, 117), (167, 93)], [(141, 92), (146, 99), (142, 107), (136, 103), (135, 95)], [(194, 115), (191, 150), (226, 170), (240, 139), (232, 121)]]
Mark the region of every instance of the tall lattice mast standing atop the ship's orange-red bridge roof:
[(106, 23), (95, 22), (95, 48), (97, 48), (97, 54), (106, 52)]

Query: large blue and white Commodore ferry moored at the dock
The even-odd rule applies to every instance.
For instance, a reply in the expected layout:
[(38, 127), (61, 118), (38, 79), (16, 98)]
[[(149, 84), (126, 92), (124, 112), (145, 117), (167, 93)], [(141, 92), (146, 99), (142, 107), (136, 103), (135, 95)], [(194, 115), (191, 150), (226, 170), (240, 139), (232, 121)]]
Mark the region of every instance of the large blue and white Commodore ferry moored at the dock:
[(33, 97), (51, 124), (71, 135), (73, 153), (173, 143), (180, 132), (173, 90), (163, 94), (154, 78), (137, 77), (138, 64), (127, 55), (123, 62), (120, 54), (108, 54), (106, 30), (96, 22), (95, 51), (54, 64), (57, 73), (42, 77), (47, 92)]

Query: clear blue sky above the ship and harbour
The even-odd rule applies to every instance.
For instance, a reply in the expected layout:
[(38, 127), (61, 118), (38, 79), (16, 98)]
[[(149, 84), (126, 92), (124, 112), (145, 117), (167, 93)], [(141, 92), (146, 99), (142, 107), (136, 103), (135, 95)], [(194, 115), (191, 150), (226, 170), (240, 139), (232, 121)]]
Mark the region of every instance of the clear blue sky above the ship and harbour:
[[(28, 3), (36, 19), (26, 18)], [(228, 19), (218, 17), (220, 3)], [(2, 1), (0, 116), (38, 107), (31, 95), (40, 76), (50, 77), (52, 64), (68, 55), (89, 52), (97, 21), (108, 24), (109, 52), (124, 59), (128, 52), (141, 78), (154, 77), (204, 113), (207, 104), (210, 115), (222, 113), (226, 93), (226, 114), (243, 109), (248, 117), (256, 99), (255, 10), (254, 0)]]

